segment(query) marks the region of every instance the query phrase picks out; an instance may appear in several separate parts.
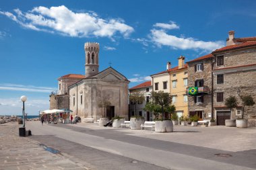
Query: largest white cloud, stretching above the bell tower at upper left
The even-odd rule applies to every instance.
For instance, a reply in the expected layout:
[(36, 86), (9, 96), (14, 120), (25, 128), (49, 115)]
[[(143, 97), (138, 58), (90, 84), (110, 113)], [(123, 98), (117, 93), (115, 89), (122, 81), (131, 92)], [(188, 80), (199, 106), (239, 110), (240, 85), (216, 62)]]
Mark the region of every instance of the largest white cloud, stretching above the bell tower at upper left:
[(75, 13), (64, 5), (59, 7), (34, 7), (31, 11), (22, 12), (14, 9), (15, 14), (0, 11), (24, 28), (31, 30), (59, 33), (71, 37), (108, 37), (119, 32), (127, 37), (133, 28), (124, 24), (123, 19), (102, 19), (94, 12)]

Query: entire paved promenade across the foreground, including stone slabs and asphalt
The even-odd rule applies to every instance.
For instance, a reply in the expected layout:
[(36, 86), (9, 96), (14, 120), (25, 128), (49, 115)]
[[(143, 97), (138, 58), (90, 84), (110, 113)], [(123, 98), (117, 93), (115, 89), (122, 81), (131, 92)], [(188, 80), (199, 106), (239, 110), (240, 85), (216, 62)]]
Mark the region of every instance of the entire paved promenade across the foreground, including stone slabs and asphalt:
[(83, 123), (26, 127), (32, 136), (23, 138), (17, 124), (0, 126), (0, 169), (256, 169), (256, 128), (174, 126), (162, 134)]

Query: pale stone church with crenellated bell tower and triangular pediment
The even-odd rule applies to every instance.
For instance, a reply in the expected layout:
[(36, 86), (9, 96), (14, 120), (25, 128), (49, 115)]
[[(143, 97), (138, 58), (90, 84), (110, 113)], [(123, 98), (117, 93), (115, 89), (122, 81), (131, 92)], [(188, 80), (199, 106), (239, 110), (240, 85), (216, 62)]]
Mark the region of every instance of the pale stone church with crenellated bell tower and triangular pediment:
[[(122, 116), (128, 119), (128, 79), (108, 67), (103, 71), (99, 68), (100, 45), (86, 42), (86, 75), (69, 74), (59, 77), (59, 91), (50, 95), (50, 109), (72, 110), (82, 119)], [(109, 101), (106, 109), (100, 107), (102, 101)]]

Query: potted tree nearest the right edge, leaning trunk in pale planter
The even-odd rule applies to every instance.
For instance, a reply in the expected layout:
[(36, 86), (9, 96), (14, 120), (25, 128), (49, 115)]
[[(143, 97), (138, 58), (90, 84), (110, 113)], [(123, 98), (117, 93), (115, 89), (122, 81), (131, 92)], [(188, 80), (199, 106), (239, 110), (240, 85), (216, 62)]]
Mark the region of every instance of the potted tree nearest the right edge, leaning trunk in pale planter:
[(243, 112), (242, 112), (242, 118), (236, 120), (236, 127), (237, 128), (247, 128), (248, 127), (248, 120), (244, 119), (244, 112), (245, 112), (245, 106), (252, 106), (255, 105), (255, 101), (251, 95), (241, 96), (242, 103), (243, 103)]

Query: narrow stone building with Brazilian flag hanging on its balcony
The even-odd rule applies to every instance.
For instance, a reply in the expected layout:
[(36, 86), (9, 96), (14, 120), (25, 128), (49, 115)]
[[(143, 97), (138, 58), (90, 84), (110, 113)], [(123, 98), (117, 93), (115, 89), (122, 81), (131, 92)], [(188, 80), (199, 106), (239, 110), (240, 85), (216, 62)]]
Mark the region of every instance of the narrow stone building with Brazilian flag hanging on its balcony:
[(197, 114), (201, 120), (212, 117), (212, 54), (187, 62), (187, 93), (189, 116)]

